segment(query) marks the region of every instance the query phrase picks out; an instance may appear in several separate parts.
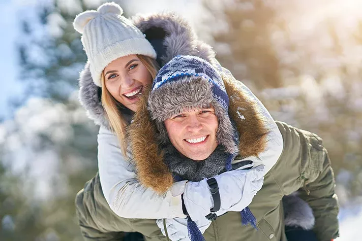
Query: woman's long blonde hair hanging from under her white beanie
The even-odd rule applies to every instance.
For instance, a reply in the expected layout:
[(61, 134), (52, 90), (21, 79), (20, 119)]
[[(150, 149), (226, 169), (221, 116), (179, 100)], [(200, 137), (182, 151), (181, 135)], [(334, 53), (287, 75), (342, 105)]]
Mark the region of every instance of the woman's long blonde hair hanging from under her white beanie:
[[(136, 54), (139, 60), (144, 64), (147, 68), (148, 72), (152, 77), (152, 81), (156, 78), (157, 72), (159, 70), (159, 65), (157, 64), (156, 60), (145, 56), (145, 55), (138, 55)], [(101, 83), (102, 83), (102, 106), (106, 112), (106, 117), (109, 121), (109, 125), (111, 130), (117, 135), (120, 149), (122, 153), (126, 154), (126, 143), (125, 143), (125, 127), (127, 126), (127, 122), (122, 115), (119, 107), (124, 106), (120, 104), (108, 91), (105, 85), (105, 77), (104, 72), (101, 75)]]

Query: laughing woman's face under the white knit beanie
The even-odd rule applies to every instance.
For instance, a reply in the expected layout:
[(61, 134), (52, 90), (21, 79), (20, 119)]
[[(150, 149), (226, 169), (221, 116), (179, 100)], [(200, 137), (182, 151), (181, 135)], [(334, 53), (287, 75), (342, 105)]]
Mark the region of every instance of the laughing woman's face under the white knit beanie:
[(109, 93), (132, 111), (143, 86), (152, 83), (152, 76), (137, 55), (127, 55), (113, 60), (104, 68), (104, 81)]

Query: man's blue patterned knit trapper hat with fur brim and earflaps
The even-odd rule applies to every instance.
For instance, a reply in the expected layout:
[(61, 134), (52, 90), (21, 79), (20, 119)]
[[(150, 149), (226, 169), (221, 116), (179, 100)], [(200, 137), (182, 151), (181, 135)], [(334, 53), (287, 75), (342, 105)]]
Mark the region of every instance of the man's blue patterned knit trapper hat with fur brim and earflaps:
[(175, 56), (157, 74), (147, 108), (160, 131), (160, 140), (168, 143), (165, 120), (185, 110), (210, 106), (219, 120), (218, 144), (224, 146), (226, 152), (237, 154), (237, 132), (228, 114), (229, 97), (220, 74), (209, 62), (190, 55)]

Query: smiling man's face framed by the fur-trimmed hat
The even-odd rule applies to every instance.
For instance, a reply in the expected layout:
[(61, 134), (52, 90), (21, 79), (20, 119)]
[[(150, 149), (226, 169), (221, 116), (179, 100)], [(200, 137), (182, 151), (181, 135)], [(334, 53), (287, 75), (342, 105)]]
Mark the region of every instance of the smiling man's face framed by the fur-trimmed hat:
[(186, 111), (165, 121), (172, 145), (192, 160), (204, 160), (215, 151), (218, 126), (214, 108)]

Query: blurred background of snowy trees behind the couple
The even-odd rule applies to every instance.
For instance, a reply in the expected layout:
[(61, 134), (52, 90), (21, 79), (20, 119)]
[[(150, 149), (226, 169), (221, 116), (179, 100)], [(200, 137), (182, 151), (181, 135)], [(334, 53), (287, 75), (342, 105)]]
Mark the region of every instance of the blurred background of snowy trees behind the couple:
[[(362, 1), (115, 1), (174, 11), (277, 120), (320, 135), (341, 203), (337, 240), (362, 225)], [(77, 100), (75, 14), (99, 0), (0, 1), (0, 239), (81, 240), (74, 197), (97, 171)], [(64, 230), (67, 230), (65, 232)]]

